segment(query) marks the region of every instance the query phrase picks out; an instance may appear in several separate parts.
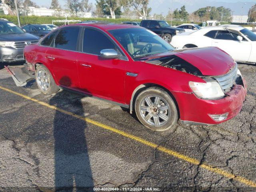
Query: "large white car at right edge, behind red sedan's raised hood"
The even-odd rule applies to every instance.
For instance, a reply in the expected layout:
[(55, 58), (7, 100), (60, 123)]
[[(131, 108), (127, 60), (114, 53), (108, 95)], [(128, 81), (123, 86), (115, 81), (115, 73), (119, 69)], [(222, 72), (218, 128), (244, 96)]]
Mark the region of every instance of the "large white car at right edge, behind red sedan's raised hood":
[(182, 48), (218, 47), (237, 62), (256, 63), (256, 34), (242, 26), (206, 27), (173, 36), (172, 46)]

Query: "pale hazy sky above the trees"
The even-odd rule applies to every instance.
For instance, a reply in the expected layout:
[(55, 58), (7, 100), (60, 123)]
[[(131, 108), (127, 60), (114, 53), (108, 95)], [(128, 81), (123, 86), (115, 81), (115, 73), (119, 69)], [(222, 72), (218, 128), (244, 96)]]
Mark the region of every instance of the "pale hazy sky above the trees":
[[(50, 7), (52, 0), (32, 0), (42, 7)], [(62, 7), (65, 6), (67, 0), (59, 0)], [(95, 0), (89, 0), (95, 4)], [(150, 0), (151, 14), (167, 14), (171, 7), (172, 0)], [(185, 5), (186, 10), (191, 13), (198, 8), (205, 6), (224, 6), (230, 8), (234, 15), (247, 15), (252, 5), (256, 4), (256, 0), (173, 0), (173, 9), (180, 8)]]

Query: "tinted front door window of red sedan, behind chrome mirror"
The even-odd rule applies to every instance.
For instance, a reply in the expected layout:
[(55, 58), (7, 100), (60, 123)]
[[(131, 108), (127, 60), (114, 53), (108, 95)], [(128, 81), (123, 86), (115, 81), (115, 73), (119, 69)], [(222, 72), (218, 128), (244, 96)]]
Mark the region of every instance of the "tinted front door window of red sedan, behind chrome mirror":
[(115, 49), (113, 42), (98, 30), (86, 28), (84, 30), (82, 52), (100, 55), (103, 49)]

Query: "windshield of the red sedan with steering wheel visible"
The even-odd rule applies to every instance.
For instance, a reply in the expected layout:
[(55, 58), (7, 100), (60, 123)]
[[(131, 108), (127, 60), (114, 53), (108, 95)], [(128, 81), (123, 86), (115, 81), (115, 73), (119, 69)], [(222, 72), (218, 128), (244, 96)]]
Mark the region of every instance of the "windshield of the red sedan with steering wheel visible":
[(175, 49), (160, 36), (144, 28), (118, 29), (109, 32), (134, 59)]

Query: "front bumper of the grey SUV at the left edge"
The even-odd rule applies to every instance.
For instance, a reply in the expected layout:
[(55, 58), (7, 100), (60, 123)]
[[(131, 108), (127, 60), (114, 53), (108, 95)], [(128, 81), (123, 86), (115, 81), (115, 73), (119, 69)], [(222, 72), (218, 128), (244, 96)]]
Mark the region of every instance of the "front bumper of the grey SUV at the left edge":
[(0, 47), (0, 62), (24, 61), (23, 48)]

